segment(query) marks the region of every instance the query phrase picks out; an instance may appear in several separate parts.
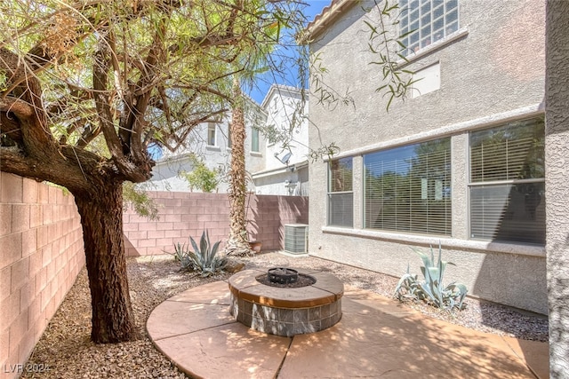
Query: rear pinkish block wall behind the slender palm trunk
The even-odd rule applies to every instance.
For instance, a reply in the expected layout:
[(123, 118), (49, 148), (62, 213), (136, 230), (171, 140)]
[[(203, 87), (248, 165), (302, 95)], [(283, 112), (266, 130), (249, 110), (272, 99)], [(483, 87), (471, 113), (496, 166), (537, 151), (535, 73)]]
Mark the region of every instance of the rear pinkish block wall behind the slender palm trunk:
[[(158, 220), (140, 217), (125, 207), (124, 242), (127, 256), (173, 253), (174, 244), (199, 241), (207, 229), (210, 241), (227, 241), (229, 201), (227, 193), (149, 192), (158, 205)], [(250, 240), (261, 241), (262, 250), (283, 248), (284, 225), (308, 223), (309, 201), (300, 196), (252, 194), (245, 202)]]

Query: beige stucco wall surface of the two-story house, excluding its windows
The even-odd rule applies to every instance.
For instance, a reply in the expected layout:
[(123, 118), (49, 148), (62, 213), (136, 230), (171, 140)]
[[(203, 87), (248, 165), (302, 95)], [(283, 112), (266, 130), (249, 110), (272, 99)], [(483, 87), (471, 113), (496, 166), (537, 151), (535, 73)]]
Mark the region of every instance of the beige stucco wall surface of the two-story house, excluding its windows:
[[(439, 65), (440, 88), (414, 99), (388, 97), (381, 67), (367, 49), (377, 20), (374, 2), (332, 3), (312, 25), (310, 51), (327, 69), (325, 81), (349, 93), (353, 106), (318, 104), (310, 94), (309, 140), (335, 143), (337, 157), (353, 157), (354, 226), (327, 226), (328, 162), (309, 166), (309, 253), (349, 265), (401, 276), (420, 259), (410, 248), (444, 249), (453, 262), (445, 273), (469, 287), (469, 295), (533, 312), (548, 312), (543, 246), (469, 239), (469, 131), (539, 116), (543, 111), (545, 2), (461, 0), (460, 28), (417, 51), (404, 65), (411, 71)], [(366, 12), (366, 9), (371, 11)], [(317, 26), (318, 28), (315, 28)], [(452, 148), (452, 233), (437, 236), (363, 228), (363, 154), (434, 138), (450, 137)]]

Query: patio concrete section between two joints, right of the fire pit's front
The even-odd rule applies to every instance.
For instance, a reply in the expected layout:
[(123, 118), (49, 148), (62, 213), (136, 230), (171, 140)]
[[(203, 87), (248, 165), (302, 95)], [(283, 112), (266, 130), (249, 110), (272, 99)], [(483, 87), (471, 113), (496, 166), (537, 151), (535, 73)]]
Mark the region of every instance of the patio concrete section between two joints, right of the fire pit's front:
[(333, 328), (294, 336), (279, 377), (535, 377), (501, 336), (481, 336), (420, 314), (378, 315), (347, 297), (343, 305)]

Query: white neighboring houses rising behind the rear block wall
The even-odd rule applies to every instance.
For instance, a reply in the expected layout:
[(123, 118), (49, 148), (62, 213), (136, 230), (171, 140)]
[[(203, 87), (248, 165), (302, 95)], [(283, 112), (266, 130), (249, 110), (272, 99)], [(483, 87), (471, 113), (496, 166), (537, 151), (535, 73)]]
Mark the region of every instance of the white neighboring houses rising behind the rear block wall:
[[(281, 85), (270, 88), (261, 106), (247, 98), (244, 145), (250, 192), (308, 195), (308, 127), (301, 106), (301, 91)], [(164, 152), (156, 162), (147, 188), (199, 192), (197, 188), (190, 188), (188, 182), (180, 177), (180, 172), (193, 170), (189, 154), (194, 154), (210, 170), (220, 173), (217, 192), (227, 193), (231, 160), (230, 121), (231, 114), (228, 113), (220, 120), (201, 123), (192, 130), (184, 148), (175, 153)], [(291, 134), (293, 141), (289, 148), (283, 148), (281, 141), (271, 139), (286, 136), (287, 130), (293, 125), (296, 127)], [(265, 137), (267, 133), (268, 138)]]

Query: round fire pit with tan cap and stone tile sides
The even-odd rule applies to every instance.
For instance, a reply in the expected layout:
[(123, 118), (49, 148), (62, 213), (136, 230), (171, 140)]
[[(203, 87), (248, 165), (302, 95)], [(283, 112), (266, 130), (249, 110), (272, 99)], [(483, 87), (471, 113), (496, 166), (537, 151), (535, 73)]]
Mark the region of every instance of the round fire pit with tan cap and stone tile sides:
[(342, 282), (329, 272), (303, 271), (316, 283), (278, 288), (256, 277), (267, 271), (245, 270), (229, 278), (229, 312), (247, 327), (276, 336), (294, 336), (330, 328), (341, 319)]

